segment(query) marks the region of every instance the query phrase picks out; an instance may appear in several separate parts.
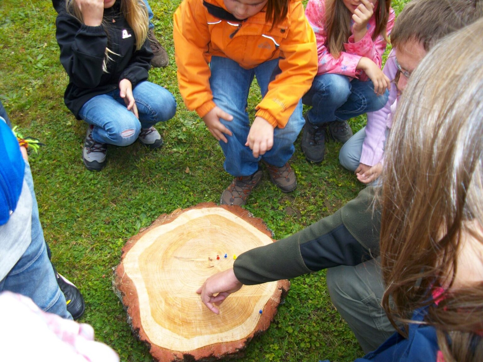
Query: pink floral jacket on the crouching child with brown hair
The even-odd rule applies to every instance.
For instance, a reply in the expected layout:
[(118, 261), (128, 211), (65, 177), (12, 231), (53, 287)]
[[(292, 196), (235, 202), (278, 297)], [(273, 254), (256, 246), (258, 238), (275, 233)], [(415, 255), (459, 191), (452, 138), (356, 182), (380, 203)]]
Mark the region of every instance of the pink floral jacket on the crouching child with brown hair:
[[(315, 32), (317, 39), (317, 55), (318, 55), (318, 71), (317, 75), (324, 73), (336, 73), (347, 75), (351, 78), (357, 78), (361, 81), (367, 81), (367, 75), (356, 70), (355, 67), (363, 56), (371, 59), (379, 68), (382, 66), (382, 55), (386, 49), (386, 41), (384, 37), (378, 36), (375, 41), (372, 40), (372, 34), (376, 27), (375, 16), (372, 16), (367, 25), (367, 33), (358, 42), (354, 42), (354, 35), (351, 35), (346, 43), (344, 43), (345, 52), (341, 52), (339, 58), (334, 58), (327, 50), (326, 41), (327, 33), (325, 30), (326, 5), (325, 0), (309, 0), (305, 9), (305, 16), (309, 20), (310, 25)], [(392, 8), (389, 9), (389, 19), (387, 21), (387, 35), (391, 33), (394, 26), (395, 14)], [(351, 28), (354, 24), (351, 19)]]

